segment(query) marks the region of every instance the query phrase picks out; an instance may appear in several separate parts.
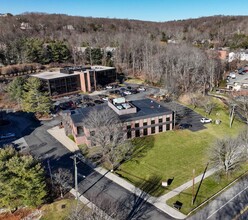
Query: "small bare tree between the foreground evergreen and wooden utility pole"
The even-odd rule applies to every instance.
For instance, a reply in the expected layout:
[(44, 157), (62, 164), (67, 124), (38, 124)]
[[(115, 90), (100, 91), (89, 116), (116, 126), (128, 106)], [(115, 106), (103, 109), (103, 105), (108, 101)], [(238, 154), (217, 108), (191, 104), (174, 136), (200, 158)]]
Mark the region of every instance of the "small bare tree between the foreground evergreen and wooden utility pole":
[(59, 168), (54, 172), (53, 178), (59, 185), (59, 191), (61, 198), (64, 197), (64, 193), (71, 188), (72, 185), (72, 174), (70, 170)]

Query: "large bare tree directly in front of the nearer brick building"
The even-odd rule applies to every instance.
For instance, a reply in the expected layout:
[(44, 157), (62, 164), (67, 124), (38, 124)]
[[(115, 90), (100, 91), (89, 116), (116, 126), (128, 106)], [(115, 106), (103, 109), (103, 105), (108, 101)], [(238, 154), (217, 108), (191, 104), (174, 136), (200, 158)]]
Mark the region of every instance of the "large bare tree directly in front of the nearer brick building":
[(108, 107), (92, 110), (86, 117), (85, 126), (91, 134), (91, 146), (100, 147), (96, 154), (100, 154), (101, 161), (110, 164), (111, 169), (130, 155), (131, 142), (126, 139), (122, 122), (113, 110)]

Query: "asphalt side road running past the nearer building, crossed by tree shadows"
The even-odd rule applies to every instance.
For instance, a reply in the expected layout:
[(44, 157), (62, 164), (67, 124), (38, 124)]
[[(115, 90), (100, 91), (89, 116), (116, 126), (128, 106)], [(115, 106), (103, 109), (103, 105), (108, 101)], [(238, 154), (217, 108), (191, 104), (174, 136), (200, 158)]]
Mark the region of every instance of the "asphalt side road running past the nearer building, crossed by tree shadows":
[[(71, 152), (47, 132), (47, 129), (56, 123), (59, 124), (60, 120), (42, 123), (41, 126), (26, 135), (25, 140), (29, 145), (30, 152), (43, 160), (46, 167), (49, 160), (52, 172), (57, 168), (65, 168), (73, 173)], [(79, 193), (109, 215), (113, 216), (113, 213), (118, 213), (122, 219), (173, 219), (147, 203), (146, 200), (149, 197), (146, 194), (136, 196), (130, 193), (81, 161), (77, 166)], [(118, 217), (118, 219), (120, 218)]]

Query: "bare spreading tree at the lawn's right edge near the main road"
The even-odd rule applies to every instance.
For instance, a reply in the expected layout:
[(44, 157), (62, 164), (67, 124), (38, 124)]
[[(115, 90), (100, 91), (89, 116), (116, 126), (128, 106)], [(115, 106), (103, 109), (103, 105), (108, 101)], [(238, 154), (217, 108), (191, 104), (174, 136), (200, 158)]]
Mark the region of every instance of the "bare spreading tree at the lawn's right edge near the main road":
[(228, 175), (231, 171), (236, 170), (246, 158), (246, 147), (237, 139), (218, 140), (210, 150), (210, 163), (224, 170)]

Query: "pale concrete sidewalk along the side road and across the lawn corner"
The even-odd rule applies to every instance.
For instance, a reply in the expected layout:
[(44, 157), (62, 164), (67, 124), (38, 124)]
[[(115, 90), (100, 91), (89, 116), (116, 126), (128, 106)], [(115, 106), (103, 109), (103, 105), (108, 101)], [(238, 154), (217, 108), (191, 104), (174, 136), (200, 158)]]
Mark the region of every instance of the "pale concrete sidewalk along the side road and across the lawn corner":
[[(48, 132), (56, 138), (60, 143), (62, 143), (68, 150), (74, 152), (76, 150), (79, 150), (76, 144), (70, 140), (64, 132), (64, 129), (59, 129), (58, 127), (54, 127), (52, 129), (49, 129)], [(110, 171), (102, 168), (102, 167), (97, 167), (95, 168), (95, 171), (98, 173), (105, 175), (108, 179), (112, 180), (113, 182), (117, 183), (118, 185), (122, 186), (123, 188), (129, 190), (130, 192), (136, 194), (137, 196), (141, 195), (142, 191), (140, 189), (137, 189), (134, 185), (131, 183), (127, 182), (126, 180), (120, 178), (119, 176), (111, 173)], [(214, 172), (216, 172), (216, 169), (211, 169), (208, 170), (204, 176), (204, 179), (210, 175), (212, 175)], [(202, 175), (199, 175), (195, 178), (195, 184), (201, 181)], [(184, 183), (183, 185), (171, 190), (169, 193), (160, 196), (158, 198), (156, 197), (150, 197), (148, 199), (148, 202), (151, 205), (154, 205), (156, 208), (160, 209), (161, 211), (167, 213), (168, 215), (172, 216), (173, 218), (176, 219), (185, 219), (187, 216), (179, 212), (179, 210), (174, 209), (166, 204), (166, 201), (185, 189), (189, 188), (192, 186), (192, 181), (188, 181)]]

